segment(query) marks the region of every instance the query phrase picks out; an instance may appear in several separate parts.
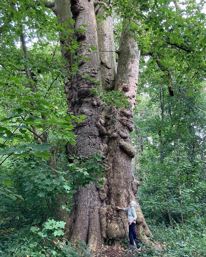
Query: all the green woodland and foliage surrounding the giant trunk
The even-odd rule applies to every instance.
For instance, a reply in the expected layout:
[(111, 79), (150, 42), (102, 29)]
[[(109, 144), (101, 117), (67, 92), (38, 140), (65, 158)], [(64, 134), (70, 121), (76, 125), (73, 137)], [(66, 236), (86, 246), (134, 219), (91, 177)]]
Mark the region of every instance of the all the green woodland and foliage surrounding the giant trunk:
[[(113, 6), (115, 49), (126, 15), (142, 54), (132, 167), (141, 182), (138, 198), (154, 235), (151, 242), (165, 244), (161, 253), (148, 245), (139, 256), (206, 255), (204, 4), (159, 0), (119, 1)], [(131, 8), (134, 5), (142, 16)], [(58, 24), (42, 1), (1, 1), (0, 6), (0, 254), (87, 255), (84, 242), (73, 245), (65, 238), (58, 200), (63, 196), (61, 208), (69, 213), (78, 186), (90, 181), (103, 185), (107, 164), (101, 152), (66, 156), (66, 143), (75, 145), (73, 121), (85, 119), (67, 113), (68, 63), (62, 58), (58, 31), (64, 37), (68, 24)], [(101, 19), (98, 16), (97, 23)], [(70, 23), (75, 21), (71, 18)], [(66, 34), (73, 32), (67, 29)], [(68, 51), (75, 54), (79, 42), (72, 40)], [(90, 51), (97, 50), (91, 46)], [(77, 72), (73, 62), (70, 76)], [(105, 108), (128, 107), (123, 94), (93, 82), (97, 87), (92, 93), (101, 94)], [(168, 91), (171, 83), (174, 96)], [(117, 190), (121, 195), (121, 188)], [(107, 238), (105, 244), (112, 240)], [(126, 246), (127, 238), (117, 240)]]

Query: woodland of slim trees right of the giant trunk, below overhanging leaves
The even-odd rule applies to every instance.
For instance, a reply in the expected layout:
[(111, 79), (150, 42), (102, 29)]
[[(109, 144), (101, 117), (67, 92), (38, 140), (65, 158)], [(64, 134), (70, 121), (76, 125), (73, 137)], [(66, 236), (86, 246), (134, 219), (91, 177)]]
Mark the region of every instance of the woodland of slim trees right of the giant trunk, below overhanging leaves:
[[(148, 78), (148, 62), (142, 62), (131, 133), (134, 173), (142, 183), (139, 203), (155, 239), (165, 242), (164, 255), (204, 256), (205, 82), (197, 84), (199, 94), (191, 94), (174, 72), (171, 98), (162, 71), (152, 68)], [(157, 256), (154, 249), (150, 254)]]

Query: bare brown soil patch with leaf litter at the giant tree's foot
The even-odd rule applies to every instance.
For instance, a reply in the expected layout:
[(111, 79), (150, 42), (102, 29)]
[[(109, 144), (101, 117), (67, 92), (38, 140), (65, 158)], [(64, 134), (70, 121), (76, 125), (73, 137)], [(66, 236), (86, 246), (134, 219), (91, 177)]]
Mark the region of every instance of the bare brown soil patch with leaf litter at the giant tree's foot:
[(138, 256), (140, 251), (128, 253), (123, 247), (117, 248), (114, 246), (105, 245), (103, 248), (91, 254), (92, 257), (131, 257)]

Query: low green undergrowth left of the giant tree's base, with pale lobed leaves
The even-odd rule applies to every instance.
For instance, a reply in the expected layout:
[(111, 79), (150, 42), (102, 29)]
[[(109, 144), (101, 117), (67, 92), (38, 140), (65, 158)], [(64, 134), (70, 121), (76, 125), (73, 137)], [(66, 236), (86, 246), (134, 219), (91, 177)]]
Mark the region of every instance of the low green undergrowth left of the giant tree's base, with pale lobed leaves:
[(89, 256), (84, 241), (72, 244), (64, 238), (64, 222), (48, 219), (42, 226), (25, 226), (21, 230), (1, 231), (1, 257), (74, 257)]

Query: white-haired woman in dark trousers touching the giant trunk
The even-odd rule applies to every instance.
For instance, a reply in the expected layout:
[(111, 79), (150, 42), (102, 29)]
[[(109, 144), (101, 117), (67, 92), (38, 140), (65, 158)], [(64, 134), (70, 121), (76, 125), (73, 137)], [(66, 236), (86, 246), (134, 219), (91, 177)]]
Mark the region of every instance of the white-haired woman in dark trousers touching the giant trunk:
[[(135, 250), (140, 250), (141, 247), (139, 246), (139, 240), (137, 238), (136, 232), (135, 232), (135, 224), (136, 224), (136, 211), (135, 207), (137, 206), (137, 203), (135, 201), (130, 202), (130, 206), (126, 208), (120, 208), (117, 206), (118, 210), (124, 210), (127, 211), (128, 216), (128, 224), (129, 224), (129, 238), (130, 238), (130, 250), (129, 252), (133, 252)], [(134, 247), (134, 242), (136, 244), (136, 248)]]

